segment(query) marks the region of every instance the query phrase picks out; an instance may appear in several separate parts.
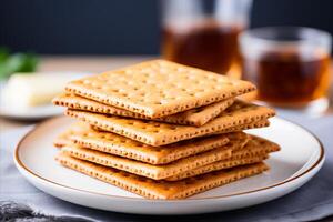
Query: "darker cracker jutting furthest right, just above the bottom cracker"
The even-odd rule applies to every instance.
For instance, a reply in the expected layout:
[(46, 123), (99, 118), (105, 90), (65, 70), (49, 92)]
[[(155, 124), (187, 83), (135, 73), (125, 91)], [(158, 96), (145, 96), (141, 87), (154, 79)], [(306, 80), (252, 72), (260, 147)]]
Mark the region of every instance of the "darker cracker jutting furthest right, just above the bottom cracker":
[(233, 168), (235, 165), (261, 162), (268, 158), (269, 153), (276, 152), (279, 150), (279, 144), (263, 138), (251, 135), (251, 140), (242, 149), (233, 150), (231, 158), (179, 173), (176, 175), (167, 178), (165, 180), (175, 181), (216, 170)]

